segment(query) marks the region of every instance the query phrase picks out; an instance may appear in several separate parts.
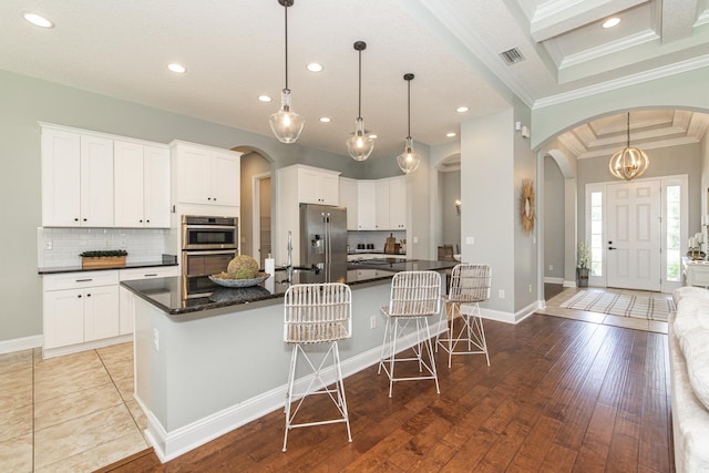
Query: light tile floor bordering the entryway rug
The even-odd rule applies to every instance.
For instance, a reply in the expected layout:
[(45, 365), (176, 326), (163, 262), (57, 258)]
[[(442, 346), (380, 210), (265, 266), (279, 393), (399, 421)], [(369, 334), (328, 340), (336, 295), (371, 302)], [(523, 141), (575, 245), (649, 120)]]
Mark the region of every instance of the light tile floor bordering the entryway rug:
[[(619, 292), (626, 295), (647, 296), (648, 294), (658, 295), (659, 292), (647, 292), (643, 290), (628, 289), (610, 289), (610, 288), (592, 288), (593, 290), (603, 290), (607, 292)], [(559, 307), (566, 299), (578, 292), (578, 288), (565, 288), (561, 294), (552, 297), (546, 301), (546, 308), (536, 310), (537, 313), (547, 316), (564, 317), (567, 319), (585, 320), (587, 322), (603, 323), (606, 326), (623, 327), (627, 329), (646, 330), (658, 333), (667, 333), (667, 322), (657, 320), (636, 319), (631, 317), (609, 316), (606, 313), (588, 312), (585, 310), (563, 309)], [(671, 297), (666, 294), (664, 296)]]

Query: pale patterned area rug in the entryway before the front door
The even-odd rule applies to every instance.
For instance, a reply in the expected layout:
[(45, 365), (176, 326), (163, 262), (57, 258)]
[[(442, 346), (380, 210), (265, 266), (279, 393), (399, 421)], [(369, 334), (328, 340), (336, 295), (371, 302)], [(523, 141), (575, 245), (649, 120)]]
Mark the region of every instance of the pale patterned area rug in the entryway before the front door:
[(580, 290), (559, 307), (666, 322), (669, 312), (675, 310), (675, 302), (669, 296), (631, 296)]

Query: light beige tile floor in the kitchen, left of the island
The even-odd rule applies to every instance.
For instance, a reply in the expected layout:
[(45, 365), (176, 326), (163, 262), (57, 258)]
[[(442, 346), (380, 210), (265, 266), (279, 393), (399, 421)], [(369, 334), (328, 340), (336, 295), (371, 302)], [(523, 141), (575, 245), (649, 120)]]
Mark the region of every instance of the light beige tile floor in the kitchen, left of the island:
[(0, 354), (0, 471), (92, 472), (148, 448), (133, 343)]

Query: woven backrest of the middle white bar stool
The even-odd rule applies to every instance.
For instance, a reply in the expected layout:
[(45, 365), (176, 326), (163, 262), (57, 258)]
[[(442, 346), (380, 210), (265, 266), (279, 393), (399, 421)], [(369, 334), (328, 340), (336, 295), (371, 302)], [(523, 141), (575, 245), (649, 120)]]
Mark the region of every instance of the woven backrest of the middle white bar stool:
[(435, 271), (401, 271), (391, 280), (390, 317), (422, 317), (441, 308), (441, 275)]

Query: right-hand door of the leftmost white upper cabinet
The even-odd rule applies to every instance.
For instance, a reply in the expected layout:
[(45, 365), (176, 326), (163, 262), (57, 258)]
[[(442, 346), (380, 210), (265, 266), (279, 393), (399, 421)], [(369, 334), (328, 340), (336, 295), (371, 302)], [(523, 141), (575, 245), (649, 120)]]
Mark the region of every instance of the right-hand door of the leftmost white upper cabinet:
[(113, 140), (81, 135), (81, 226), (113, 226)]

